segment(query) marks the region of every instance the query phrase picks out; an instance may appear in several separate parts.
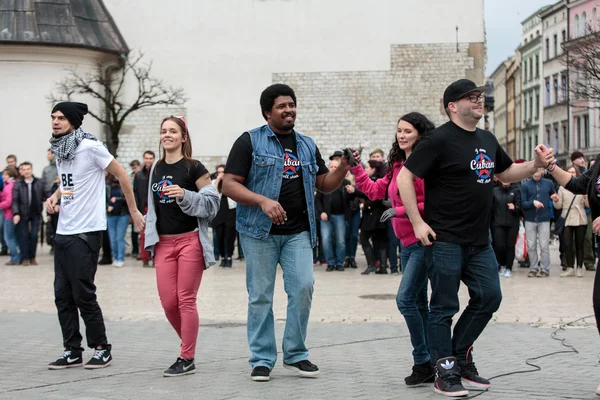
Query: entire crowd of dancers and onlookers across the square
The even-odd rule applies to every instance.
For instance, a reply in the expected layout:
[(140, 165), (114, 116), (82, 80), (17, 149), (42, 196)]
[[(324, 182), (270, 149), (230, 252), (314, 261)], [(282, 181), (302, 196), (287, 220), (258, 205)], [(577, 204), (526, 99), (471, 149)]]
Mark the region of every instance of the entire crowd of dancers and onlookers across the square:
[[(184, 116), (163, 119), (160, 158), (147, 151), (143, 165), (132, 163), (128, 175), (81, 129), (87, 105), (55, 105), (51, 163), (43, 178), (35, 178), (27, 162), (17, 170), (10, 156), (0, 196), (9, 263), (36, 263), (42, 202), (54, 229), (54, 293), (64, 351), (48, 368), (95, 369), (112, 362), (94, 279), (103, 247), (103, 258), (111, 249), (113, 265), (123, 266), (132, 224), (132, 245), (138, 246), (133, 251), (148, 266), (153, 260), (161, 304), (181, 340), (164, 376), (195, 372), (203, 271), (217, 254), (222, 267), (231, 267), (237, 239), (243, 250), (238, 257), (246, 262), (250, 378), (269, 381), (277, 361), (272, 305), (278, 266), (288, 300), (283, 366), (317, 377), (320, 370), (306, 346), (314, 265), (326, 263), (330, 272), (358, 268), (360, 243), (362, 274), (386, 274), (388, 261), (392, 273), (403, 273), (396, 304), (414, 360), (406, 385), (433, 383), (435, 392), (451, 397), (487, 390), (490, 382), (475, 367), (473, 345), (502, 301), (500, 276), (511, 275), (521, 221), (528, 276), (550, 274), (551, 221), (564, 259), (561, 276), (581, 277), (585, 268), (593, 269), (600, 163), (586, 169), (583, 154), (575, 152), (573, 165), (563, 170), (542, 144), (533, 161), (513, 162), (493, 134), (477, 128), (484, 93), (484, 87), (458, 80), (443, 94), (449, 121), (436, 128), (418, 112), (401, 116), (387, 161), (375, 150), (363, 165), (359, 151), (346, 149), (326, 164), (314, 140), (294, 130), (293, 89), (271, 85), (260, 96), (266, 124), (244, 132), (212, 176), (192, 158)], [(592, 296), (597, 322), (599, 276)], [(452, 329), (461, 281), (470, 301)], [(94, 349), (85, 364), (78, 313)]]

